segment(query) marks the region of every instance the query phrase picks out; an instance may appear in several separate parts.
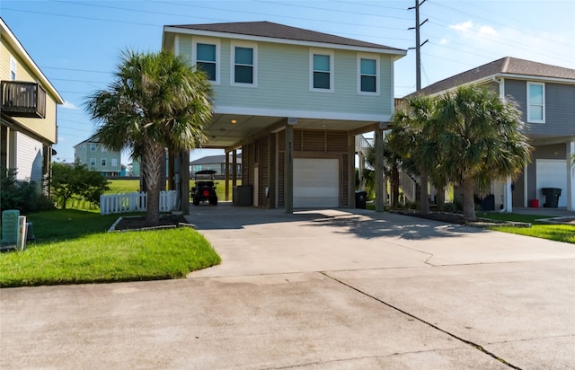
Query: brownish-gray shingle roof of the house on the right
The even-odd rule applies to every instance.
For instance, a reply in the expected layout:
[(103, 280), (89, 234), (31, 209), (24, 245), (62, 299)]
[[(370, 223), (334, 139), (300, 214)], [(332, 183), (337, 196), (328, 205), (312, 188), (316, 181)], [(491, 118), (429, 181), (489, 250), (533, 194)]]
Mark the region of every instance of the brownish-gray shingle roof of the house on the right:
[(575, 80), (575, 69), (546, 65), (544, 63), (518, 59), (517, 57), (502, 57), (486, 65), (475, 67), (459, 75), (454, 75), (435, 84), (430, 84), (421, 89), (420, 93), (441, 93), (461, 84), (473, 83), (474, 81), (499, 74)]

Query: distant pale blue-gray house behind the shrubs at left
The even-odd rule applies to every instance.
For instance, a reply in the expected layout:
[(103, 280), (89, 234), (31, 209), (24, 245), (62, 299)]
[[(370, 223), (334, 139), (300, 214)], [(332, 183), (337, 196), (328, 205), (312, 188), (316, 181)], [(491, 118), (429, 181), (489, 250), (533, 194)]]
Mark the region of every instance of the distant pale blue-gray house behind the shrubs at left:
[(101, 172), (103, 176), (120, 176), (121, 155), (108, 149), (94, 137), (74, 145), (75, 162), (85, 164), (90, 170)]

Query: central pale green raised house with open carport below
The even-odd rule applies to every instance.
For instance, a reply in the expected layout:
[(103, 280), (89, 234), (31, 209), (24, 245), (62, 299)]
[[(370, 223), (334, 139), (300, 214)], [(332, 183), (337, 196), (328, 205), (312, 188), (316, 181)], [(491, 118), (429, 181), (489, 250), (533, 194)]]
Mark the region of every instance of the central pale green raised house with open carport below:
[(163, 48), (208, 74), (208, 148), (241, 149), (257, 207), (354, 207), (355, 136), (394, 112), (399, 48), (272, 22), (164, 26)]

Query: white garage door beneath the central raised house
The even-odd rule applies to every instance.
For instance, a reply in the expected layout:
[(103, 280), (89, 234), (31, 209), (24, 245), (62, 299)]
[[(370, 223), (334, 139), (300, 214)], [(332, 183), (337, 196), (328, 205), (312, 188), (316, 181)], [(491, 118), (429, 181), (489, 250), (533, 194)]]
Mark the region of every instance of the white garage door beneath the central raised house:
[(294, 158), (294, 207), (340, 206), (337, 159)]

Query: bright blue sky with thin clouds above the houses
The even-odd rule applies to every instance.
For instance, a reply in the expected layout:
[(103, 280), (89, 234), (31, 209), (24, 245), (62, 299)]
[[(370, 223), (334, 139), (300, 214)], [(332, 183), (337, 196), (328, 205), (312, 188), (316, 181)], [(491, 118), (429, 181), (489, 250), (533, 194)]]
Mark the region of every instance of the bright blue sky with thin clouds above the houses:
[[(414, 11), (407, 9), (414, 1), (1, 0), (0, 16), (66, 101), (57, 112), (56, 160), (72, 162), (73, 146), (94, 130), (86, 96), (111, 82), (121, 50), (159, 50), (164, 25), (269, 21), (407, 49), (415, 46), (408, 30)], [(575, 68), (572, 0), (427, 0), (420, 6), (425, 19), (423, 87), (500, 57)], [(396, 97), (415, 90), (414, 50), (395, 63), (394, 84)]]

